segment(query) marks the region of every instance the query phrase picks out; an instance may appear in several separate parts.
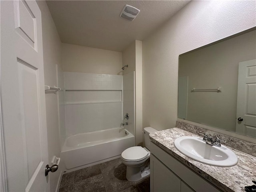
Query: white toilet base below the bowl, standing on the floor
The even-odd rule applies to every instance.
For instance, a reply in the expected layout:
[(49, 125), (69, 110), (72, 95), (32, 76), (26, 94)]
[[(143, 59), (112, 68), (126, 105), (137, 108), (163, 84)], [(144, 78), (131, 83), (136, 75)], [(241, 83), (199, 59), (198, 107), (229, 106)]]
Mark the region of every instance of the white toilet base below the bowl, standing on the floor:
[(128, 181), (135, 182), (149, 175), (150, 175), (149, 168), (144, 168), (144, 170), (141, 170), (141, 167), (126, 166), (126, 179)]

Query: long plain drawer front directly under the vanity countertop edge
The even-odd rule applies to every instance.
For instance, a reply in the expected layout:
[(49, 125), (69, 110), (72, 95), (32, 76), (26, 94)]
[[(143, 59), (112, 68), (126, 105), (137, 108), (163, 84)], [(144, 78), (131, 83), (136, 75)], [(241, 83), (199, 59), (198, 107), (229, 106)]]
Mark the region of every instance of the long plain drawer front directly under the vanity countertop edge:
[(172, 172), (180, 177), (188, 186), (196, 192), (221, 192), (204, 178), (187, 168), (184, 164), (176, 160), (170, 154), (150, 142), (150, 153), (165, 164)]

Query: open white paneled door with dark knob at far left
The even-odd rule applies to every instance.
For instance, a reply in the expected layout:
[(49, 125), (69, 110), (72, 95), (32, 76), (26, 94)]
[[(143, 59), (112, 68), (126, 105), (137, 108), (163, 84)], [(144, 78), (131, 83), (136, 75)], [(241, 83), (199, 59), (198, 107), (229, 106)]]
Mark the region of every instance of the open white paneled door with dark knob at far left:
[(48, 146), (41, 12), (36, 1), (30, 0), (0, 1), (0, 9), (7, 190), (49, 191), (44, 175)]

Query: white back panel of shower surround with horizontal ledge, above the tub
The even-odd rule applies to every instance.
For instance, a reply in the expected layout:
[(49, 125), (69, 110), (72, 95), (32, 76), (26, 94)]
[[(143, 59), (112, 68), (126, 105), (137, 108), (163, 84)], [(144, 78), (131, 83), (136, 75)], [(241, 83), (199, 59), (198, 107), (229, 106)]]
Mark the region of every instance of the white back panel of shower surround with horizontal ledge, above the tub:
[(64, 72), (66, 134), (120, 127), (123, 76)]

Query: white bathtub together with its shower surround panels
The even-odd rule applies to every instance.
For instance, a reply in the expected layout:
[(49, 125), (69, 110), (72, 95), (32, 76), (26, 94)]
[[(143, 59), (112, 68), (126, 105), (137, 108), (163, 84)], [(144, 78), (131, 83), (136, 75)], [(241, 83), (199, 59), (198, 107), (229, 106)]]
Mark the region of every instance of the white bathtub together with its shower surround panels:
[[(117, 158), (134, 146), (134, 72), (124, 75), (124, 82), (121, 75), (64, 72), (64, 87), (61, 157), (66, 171)], [(129, 120), (124, 120), (126, 112)], [(123, 122), (128, 125), (123, 127)]]

